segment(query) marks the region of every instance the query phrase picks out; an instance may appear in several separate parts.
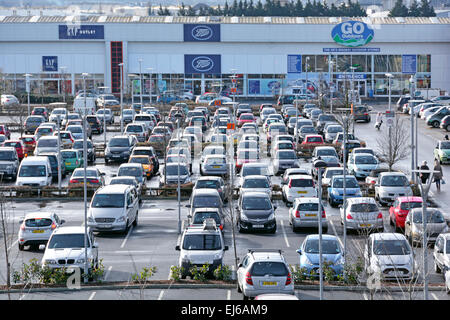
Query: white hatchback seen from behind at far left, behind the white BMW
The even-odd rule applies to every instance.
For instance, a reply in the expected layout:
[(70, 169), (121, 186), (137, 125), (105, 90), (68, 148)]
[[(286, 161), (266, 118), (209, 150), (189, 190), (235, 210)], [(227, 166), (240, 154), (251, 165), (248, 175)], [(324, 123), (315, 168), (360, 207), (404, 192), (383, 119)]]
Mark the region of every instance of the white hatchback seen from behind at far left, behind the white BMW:
[(25, 246), (37, 248), (41, 244), (47, 244), (53, 230), (59, 228), (65, 220), (61, 220), (54, 212), (30, 212), (20, 220), (18, 234), (19, 250)]

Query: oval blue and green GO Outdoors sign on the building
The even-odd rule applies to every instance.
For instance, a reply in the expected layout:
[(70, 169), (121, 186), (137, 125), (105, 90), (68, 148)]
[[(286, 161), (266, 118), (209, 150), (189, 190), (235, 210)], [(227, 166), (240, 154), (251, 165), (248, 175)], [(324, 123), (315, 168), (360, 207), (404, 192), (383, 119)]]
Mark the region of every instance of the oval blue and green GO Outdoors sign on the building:
[(334, 42), (346, 47), (360, 47), (368, 44), (374, 37), (373, 29), (361, 21), (346, 21), (331, 30)]

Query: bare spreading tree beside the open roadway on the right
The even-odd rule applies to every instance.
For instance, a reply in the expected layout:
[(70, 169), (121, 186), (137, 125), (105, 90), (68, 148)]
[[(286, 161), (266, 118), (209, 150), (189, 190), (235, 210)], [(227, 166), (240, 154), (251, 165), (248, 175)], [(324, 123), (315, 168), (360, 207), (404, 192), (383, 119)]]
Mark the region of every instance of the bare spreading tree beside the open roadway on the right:
[(378, 157), (387, 163), (389, 171), (397, 162), (409, 156), (409, 133), (404, 126), (404, 120), (396, 117), (390, 130), (381, 133), (381, 137), (377, 139), (377, 149)]

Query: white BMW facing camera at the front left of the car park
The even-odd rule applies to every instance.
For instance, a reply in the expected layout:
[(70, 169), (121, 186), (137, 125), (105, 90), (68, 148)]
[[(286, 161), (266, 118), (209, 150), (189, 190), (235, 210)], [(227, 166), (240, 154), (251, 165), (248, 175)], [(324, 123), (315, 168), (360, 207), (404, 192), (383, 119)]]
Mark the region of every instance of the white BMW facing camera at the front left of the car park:
[(94, 241), (91, 229), (87, 233), (87, 251), (85, 254), (84, 227), (61, 227), (53, 231), (45, 247), (41, 264), (50, 269), (79, 268), (84, 271), (87, 254), (88, 274), (98, 267), (98, 244)]

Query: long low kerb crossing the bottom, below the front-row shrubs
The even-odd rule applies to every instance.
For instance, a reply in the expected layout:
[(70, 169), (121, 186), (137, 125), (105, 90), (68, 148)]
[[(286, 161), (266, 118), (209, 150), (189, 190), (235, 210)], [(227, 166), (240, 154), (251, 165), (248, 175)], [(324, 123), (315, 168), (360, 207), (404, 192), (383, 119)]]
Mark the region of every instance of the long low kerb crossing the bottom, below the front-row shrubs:
[[(133, 289), (236, 289), (235, 283), (230, 284), (152, 284), (147, 283), (143, 285), (99, 285), (99, 286), (81, 286), (80, 288), (69, 289), (67, 287), (58, 288), (28, 288), (28, 289), (11, 289), (9, 293), (39, 293), (39, 292), (78, 292), (78, 291), (99, 291), (99, 290), (133, 290)], [(295, 285), (295, 290), (320, 290), (319, 285)], [(364, 286), (324, 286), (324, 291), (353, 291), (353, 292), (370, 292), (367, 287)], [(394, 286), (392, 288), (383, 287), (375, 292), (408, 292), (408, 287)], [(414, 287), (414, 292), (422, 291), (421, 286)], [(446, 288), (443, 285), (432, 286), (428, 288), (428, 291), (445, 291)], [(7, 294), (8, 290), (0, 290), (0, 294)]]

